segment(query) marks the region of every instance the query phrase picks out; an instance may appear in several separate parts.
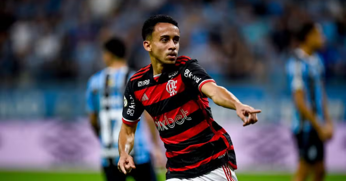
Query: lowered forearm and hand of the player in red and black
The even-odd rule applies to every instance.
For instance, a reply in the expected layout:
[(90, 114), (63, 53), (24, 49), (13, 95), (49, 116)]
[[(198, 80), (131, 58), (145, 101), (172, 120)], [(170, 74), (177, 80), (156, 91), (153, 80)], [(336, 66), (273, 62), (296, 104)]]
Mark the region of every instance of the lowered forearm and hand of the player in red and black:
[(135, 132), (137, 123), (133, 125), (127, 125), (122, 123), (119, 132), (119, 162), (118, 169), (120, 172), (127, 174), (131, 169), (135, 169), (135, 163), (133, 157), (130, 156), (130, 152), (135, 142)]

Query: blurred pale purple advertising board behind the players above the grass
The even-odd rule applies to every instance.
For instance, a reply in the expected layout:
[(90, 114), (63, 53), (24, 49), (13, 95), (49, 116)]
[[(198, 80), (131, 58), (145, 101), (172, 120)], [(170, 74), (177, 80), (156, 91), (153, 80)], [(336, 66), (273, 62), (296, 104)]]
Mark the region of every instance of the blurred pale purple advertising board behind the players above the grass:
[[(238, 121), (221, 124), (232, 138), (238, 171), (292, 172), (297, 150), (288, 126), (265, 124), (243, 127)], [(327, 169), (346, 172), (346, 125), (335, 125), (326, 145)], [(1, 121), (0, 168), (100, 168), (99, 143), (86, 120)], [(162, 149), (164, 152), (164, 148)]]

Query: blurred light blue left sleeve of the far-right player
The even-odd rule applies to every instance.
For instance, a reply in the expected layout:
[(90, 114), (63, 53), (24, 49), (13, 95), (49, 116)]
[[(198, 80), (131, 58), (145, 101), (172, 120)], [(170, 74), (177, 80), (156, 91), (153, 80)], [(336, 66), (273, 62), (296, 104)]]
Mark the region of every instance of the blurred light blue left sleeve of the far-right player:
[(302, 62), (295, 60), (289, 61), (286, 71), (291, 91), (302, 90), (304, 88)]

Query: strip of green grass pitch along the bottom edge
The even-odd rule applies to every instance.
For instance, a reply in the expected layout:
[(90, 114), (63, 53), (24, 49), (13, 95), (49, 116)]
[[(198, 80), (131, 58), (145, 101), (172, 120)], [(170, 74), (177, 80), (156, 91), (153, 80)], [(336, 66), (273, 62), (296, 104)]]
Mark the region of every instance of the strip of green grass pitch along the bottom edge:
[[(246, 174), (237, 173), (239, 181), (290, 181), (289, 174)], [(1, 181), (103, 181), (101, 173), (61, 172), (61, 171), (0, 171)], [(164, 173), (158, 175), (158, 181), (165, 180)], [(127, 181), (134, 181), (128, 179)], [(346, 181), (346, 174), (329, 174), (326, 181)]]

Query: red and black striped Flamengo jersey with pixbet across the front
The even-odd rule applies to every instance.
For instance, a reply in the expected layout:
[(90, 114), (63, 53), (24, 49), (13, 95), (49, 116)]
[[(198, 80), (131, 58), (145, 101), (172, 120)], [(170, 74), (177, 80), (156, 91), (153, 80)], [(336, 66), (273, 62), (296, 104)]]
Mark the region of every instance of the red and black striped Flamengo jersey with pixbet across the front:
[(230, 136), (200, 92), (207, 82), (215, 81), (197, 60), (180, 56), (157, 82), (150, 64), (127, 83), (122, 121), (133, 125), (144, 110), (153, 117), (167, 150), (166, 179), (198, 177), (225, 163), (237, 169)]

